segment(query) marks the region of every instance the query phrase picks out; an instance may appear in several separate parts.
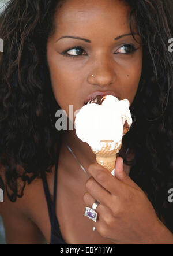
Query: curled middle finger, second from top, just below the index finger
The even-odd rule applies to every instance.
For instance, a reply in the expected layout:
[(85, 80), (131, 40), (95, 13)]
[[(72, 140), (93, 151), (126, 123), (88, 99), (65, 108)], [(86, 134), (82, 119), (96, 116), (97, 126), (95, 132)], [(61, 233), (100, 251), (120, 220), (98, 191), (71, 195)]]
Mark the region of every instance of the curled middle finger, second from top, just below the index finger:
[(90, 177), (85, 184), (86, 189), (93, 198), (97, 199), (103, 205), (111, 206), (111, 194), (102, 187), (93, 177)]

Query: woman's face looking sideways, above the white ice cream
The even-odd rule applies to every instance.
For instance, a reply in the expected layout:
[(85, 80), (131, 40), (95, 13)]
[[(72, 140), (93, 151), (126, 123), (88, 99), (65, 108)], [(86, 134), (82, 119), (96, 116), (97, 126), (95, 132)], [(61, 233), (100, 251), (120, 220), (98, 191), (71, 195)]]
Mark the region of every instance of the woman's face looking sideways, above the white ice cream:
[(130, 34), (129, 13), (121, 0), (66, 0), (57, 9), (47, 61), (55, 99), (67, 113), (69, 105), (80, 109), (94, 92), (133, 102), (142, 45), (139, 35), (137, 43)]

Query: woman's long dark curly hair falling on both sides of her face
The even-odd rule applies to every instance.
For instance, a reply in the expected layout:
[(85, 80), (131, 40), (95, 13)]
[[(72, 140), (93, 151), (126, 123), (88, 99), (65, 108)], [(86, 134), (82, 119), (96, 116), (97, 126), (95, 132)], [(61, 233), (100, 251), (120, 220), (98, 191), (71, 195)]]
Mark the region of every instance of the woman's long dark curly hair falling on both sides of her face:
[[(144, 57), (130, 107), (136, 122), (125, 135), (135, 157), (128, 162), (120, 155), (132, 165), (131, 179), (148, 194), (158, 217), (173, 232), (173, 205), (168, 202), (168, 189), (173, 188), (171, 1), (126, 2), (131, 6), (130, 29), (133, 32), (137, 24)], [(10, 0), (0, 17), (0, 162), (12, 202), (22, 197), (26, 182), (51, 172), (61, 144), (61, 132), (55, 129), (60, 107), (51, 88), (46, 46), (55, 29), (55, 10), (62, 4), (63, 0)]]

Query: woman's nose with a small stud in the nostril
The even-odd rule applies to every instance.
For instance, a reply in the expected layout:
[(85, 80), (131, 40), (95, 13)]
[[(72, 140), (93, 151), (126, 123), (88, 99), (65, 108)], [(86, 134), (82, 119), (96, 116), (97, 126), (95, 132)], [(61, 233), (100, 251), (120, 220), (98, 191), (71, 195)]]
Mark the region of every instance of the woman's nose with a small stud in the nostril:
[(116, 74), (111, 65), (111, 60), (97, 60), (93, 64), (91, 72), (88, 75), (88, 83), (100, 87), (106, 87), (114, 83)]

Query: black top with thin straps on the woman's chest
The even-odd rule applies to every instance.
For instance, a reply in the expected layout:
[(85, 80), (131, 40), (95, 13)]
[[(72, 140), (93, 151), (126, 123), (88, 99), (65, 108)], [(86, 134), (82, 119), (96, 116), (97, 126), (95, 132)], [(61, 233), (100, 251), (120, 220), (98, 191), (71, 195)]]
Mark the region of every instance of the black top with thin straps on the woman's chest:
[(58, 222), (57, 216), (56, 216), (58, 158), (59, 158), (59, 152), (58, 152), (58, 157), (57, 157), (56, 163), (55, 163), (53, 201), (51, 200), (50, 192), (48, 190), (48, 184), (47, 184), (47, 180), (46, 180), (46, 173), (44, 172), (43, 175), (42, 175), (44, 193), (46, 195), (48, 213), (49, 213), (50, 223), (51, 223), (51, 241), (50, 241), (50, 244), (66, 244), (66, 242), (62, 238), (62, 235), (61, 235), (61, 232), (60, 232), (60, 229), (59, 229), (59, 222)]

